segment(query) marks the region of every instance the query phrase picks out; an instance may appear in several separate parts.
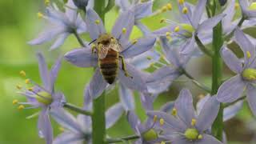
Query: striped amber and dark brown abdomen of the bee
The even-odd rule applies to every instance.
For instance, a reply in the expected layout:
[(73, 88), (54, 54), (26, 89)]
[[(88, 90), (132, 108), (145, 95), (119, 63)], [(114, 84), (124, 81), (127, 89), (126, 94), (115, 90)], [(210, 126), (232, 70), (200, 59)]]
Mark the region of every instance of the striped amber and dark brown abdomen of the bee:
[(102, 76), (109, 84), (112, 84), (117, 77), (119, 64), (118, 57), (118, 52), (110, 49), (106, 54), (106, 58), (99, 59), (98, 61)]

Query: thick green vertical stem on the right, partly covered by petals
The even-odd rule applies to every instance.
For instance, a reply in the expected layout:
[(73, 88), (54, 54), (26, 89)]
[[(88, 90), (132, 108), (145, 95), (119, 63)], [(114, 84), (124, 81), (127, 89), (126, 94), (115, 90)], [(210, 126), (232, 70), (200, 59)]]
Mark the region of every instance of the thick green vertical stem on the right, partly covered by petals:
[[(211, 95), (217, 94), (218, 87), (222, 84), (222, 58), (219, 52), (223, 45), (222, 22), (219, 22), (218, 25), (214, 27), (213, 37), (214, 56), (212, 58), (213, 77)], [(223, 109), (224, 106), (221, 104), (218, 116), (214, 121), (212, 129), (214, 136), (218, 138), (219, 141), (222, 141)]]

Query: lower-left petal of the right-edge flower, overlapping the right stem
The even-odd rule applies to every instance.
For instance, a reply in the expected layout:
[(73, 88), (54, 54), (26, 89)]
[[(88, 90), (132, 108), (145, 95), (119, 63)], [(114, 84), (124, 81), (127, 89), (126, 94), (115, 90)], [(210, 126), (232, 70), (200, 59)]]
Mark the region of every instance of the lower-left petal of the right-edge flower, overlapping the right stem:
[(234, 102), (242, 95), (245, 86), (246, 82), (243, 81), (240, 74), (230, 78), (219, 87), (217, 93), (218, 101)]

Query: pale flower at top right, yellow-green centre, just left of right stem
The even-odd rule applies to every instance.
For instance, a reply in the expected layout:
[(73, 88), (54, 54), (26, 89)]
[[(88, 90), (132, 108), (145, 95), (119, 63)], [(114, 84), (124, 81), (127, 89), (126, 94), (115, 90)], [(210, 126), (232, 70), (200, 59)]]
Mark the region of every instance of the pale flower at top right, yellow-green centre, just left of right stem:
[[(181, 47), (183, 54), (188, 54), (194, 50), (195, 36), (198, 36), (202, 42), (211, 38), (210, 30), (224, 18), (225, 14), (218, 14), (213, 18), (204, 19), (202, 15), (206, 7), (207, 0), (199, 0), (196, 6), (192, 6), (187, 2), (178, 2), (180, 12), (180, 22), (170, 22), (170, 26), (166, 26), (160, 30), (154, 31), (153, 34), (158, 36), (166, 36), (166, 38), (182, 38), (184, 45)], [(206, 34), (206, 35), (205, 35)]]

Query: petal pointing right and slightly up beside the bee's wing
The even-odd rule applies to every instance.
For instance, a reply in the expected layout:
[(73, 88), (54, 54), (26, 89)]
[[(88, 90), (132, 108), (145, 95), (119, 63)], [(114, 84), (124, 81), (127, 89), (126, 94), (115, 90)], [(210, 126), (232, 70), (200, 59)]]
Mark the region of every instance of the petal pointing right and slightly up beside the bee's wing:
[(149, 36), (146, 38), (140, 38), (138, 39), (138, 42), (136, 42), (135, 44), (130, 43), (130, 45), (126, 47), (121, 54), (125, 58), (132, 58), (138, 54), (142, 54), (147, 50), (150, 50), (154, 46), (155, 41), (156, 41), (156, 38), (152, 36)]

